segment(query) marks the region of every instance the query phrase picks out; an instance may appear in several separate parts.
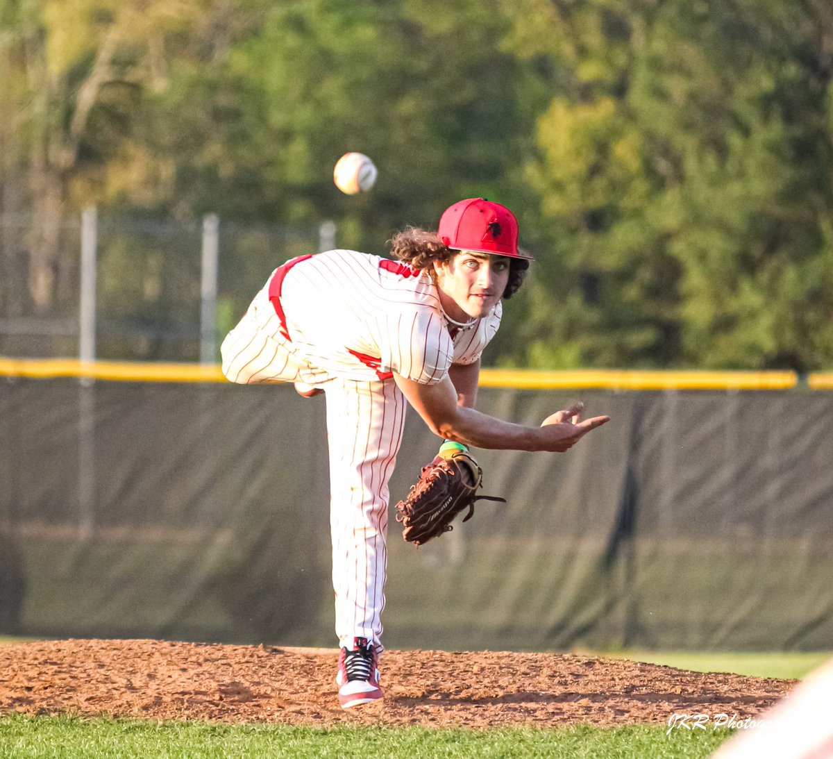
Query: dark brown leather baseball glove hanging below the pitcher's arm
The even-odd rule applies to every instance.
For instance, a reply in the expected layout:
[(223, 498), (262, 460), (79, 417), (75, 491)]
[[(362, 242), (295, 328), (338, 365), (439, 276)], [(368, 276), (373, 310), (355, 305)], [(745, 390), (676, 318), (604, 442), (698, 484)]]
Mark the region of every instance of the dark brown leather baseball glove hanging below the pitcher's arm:
[(437, 456), (422, 467), (419, 482), (411, 487), (407, 498), (397, 503), (397, 522), (402, 522), (402, 537), (416, 546), (432, 537), (451, 532), (451, 522), (468, 509), (463, 522), (474, 514), (476, 501), (500, 501), (505, 498), (478, 496), (483, 472), (471, 454), (455, 451), (449, 458)]

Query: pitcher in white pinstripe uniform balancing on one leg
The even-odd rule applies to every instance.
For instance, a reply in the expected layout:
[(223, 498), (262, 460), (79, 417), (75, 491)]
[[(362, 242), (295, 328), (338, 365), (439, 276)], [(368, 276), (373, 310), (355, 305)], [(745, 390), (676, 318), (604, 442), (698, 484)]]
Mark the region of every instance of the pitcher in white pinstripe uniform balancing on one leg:
[(326, 394), (344, 708), (382, 698), (388, 482), (406, 404), (445, 441), (441, 452), (562, 452), (609, 418), (581, 421), (576, 404), (526, 427), (474, 408), (481, 352), (531, 260), (518, 250), (508, 208), (457, 202), (437, 232), (411, 227), (391, 242), (392, 258), (332, 250), (277, 267), (221, 348), (232, 382), (293, 382), (303, 396)]

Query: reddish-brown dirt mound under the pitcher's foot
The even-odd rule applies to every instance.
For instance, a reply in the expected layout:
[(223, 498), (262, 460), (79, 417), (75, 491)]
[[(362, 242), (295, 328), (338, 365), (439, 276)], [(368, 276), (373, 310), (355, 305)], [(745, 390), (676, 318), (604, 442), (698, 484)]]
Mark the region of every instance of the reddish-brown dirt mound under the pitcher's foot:
[(382, 703), (344, 712), (337, 652), (160, 641), (0, 647), (0, 712), (431, 727), (663, 724), (754, 717), (795, 686), (566, 654), (389, 651)]

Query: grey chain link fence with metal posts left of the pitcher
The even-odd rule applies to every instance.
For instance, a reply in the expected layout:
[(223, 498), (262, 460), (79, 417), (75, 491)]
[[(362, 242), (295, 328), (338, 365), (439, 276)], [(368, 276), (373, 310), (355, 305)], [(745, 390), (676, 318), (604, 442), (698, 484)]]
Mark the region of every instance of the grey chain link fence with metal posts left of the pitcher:
[[(92, 232), (82, 217), (60, 225), (52, 256), (52, 299), (47, 308), (37, 308), (30, 279), (39, 222), (0, 216), (0, 355), (78, 356), (86, 305), (87, 316), (91, 307), (94, 315), (87, 328), (92, 328), (96, 358), (196, 362), (202, 354), (203, 360), (216, 361), (222, 335), (274, 267), (336, 244), (332, 222), (287, 226), (95, 213), (92, 220)], [(91, 272), (82, 267), (85, 244), (92, 244), (94, 252), (92, 304), (82, 298), (85, 282), (91, 282)], [(217, 254), (214, 271), (208, 272), (213, 289), (210, 282), (206, 286), (207, 252), (210, 257), (212, 250)]]

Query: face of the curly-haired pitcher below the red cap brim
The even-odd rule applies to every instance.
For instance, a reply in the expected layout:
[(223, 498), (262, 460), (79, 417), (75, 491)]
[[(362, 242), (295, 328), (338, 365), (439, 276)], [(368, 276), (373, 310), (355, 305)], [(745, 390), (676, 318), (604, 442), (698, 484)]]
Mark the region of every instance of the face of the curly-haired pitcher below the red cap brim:
[(437, 287), (452, 319), (486, 317), (500, 301), (509, 281), (509, 259), (461, 251), (436, 264)]

